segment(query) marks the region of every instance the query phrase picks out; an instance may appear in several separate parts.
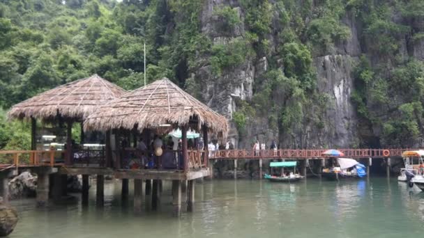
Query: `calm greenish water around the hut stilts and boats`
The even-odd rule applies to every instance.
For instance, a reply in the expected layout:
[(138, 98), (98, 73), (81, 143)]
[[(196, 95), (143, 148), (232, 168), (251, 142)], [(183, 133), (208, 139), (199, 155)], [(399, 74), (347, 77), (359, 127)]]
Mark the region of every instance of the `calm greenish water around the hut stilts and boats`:
[[(131, 185), (131, 184), (130, 184)], [(10, 237), (422, 237), (424, 192), (395, 178), (297, 184), (213, 180), (195, 185), (195, 210), (174, 218), (170, 184), (158, 211), (132, 212), (119, 182), (105, 184), (105, 208), (79, 203), (36, 209), (13, 202), (20, 222)], [(132, 197), (130, 191), (130, 199)], [(149, 203), (149, 201), (148, 201)]]

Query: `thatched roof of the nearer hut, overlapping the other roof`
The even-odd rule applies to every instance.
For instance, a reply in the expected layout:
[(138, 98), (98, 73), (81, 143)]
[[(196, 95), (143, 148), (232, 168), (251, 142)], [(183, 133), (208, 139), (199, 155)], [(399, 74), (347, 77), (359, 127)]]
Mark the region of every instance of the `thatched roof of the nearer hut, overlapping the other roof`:
[[(84, 130), (143, 129), (161, 131), (188, 125), (199, 130), (206, 125), (211, 132), (227, 136), (227, 119), (184, 90), (163, 78), (133, 90), (103, 106), (84, 120)], [(163, 132), (163, 129), (162, 129)]]

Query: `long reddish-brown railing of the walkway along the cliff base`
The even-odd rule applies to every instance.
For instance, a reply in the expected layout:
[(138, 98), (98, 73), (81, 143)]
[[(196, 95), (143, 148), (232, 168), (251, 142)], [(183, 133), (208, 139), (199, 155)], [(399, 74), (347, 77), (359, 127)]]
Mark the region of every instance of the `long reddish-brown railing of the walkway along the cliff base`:
[[(341, 149), (342, 157), (384, 158), (400, 157), (408, 149)], [(209, 152), (209, 159), (313, 159), (325, 158), (326, 150), (215, 150)]]

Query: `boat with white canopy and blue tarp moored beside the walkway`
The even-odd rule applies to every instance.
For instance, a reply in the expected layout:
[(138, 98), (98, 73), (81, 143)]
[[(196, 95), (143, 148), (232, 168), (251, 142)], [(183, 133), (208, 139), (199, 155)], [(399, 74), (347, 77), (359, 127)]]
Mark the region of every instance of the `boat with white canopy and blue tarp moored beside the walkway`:
[[(347, 179), (358, 179), (365, 177), (365, 166), (359, 164), (355, 159), (337, 158), (339, 167), (333, 169), (322, 170), (321, 176), (328, 180), (347, 180)], [(351, 169), (347, 172), (347, 169)]]

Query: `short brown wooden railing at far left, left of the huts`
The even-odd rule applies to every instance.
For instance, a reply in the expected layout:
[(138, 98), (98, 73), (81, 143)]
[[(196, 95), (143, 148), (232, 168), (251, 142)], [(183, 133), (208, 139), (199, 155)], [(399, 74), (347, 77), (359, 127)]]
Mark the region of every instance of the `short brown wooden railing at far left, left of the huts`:
[(63, 164), (64, 151), (0, 150), (1, 166), (58, 166)]

